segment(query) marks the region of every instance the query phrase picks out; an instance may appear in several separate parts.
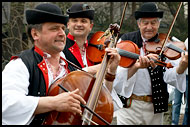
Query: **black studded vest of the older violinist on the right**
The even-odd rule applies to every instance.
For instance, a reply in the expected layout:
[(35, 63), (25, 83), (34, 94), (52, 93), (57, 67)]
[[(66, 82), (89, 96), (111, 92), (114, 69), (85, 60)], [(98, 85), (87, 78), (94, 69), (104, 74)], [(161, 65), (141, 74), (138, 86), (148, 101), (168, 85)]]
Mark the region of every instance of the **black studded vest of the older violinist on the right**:
[[(149, 39), (148, 41), (155, 41), (158, 42), (158, 34)], [(130, 32), (127, 34), (123, 34), (121, 36), (122, 40), (130, 40), (137, 44), (139, 48), (142, 47), (142, 38), (140, 31)], [(165, 58), (162, 57), (162, 60)], [(151, 78), (151, 86), (152, 86), (152, 97), (153, 97), (153, 106), (154, 106), (154, 113), (161, 113), (166, 112), (168, 110), (168, 98), (169, 93), (167, 91), (167, 84), (163, 80), (163, 72), (165, 68), (162, 66), (157, 66), (154, 70), (150, 67), (147, 68)]]

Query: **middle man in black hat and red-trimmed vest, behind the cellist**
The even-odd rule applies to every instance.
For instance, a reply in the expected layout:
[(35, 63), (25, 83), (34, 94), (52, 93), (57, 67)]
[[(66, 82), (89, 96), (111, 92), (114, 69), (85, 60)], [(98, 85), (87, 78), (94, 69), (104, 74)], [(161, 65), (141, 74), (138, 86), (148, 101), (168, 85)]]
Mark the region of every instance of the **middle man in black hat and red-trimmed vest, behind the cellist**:
[(67, 9), (67, 14), (69, 33), (63, 50), (66, 58), (81, 68), (94, 65), (86, 54), (87, 37), (94, 25), (94, 9), (87, 4), (76, 3)]

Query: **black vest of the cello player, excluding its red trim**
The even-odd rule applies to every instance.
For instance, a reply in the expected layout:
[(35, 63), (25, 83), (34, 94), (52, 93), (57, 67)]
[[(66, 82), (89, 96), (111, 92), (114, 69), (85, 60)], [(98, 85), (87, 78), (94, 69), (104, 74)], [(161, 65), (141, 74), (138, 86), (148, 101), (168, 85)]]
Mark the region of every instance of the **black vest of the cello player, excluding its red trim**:
[[(46, 96), (45, 79), (43, 77), (42, 71), (37, 66), (43, 60), (43, 57), (34, 51), (34, 47), (21, 52), (17, 56), (22, 59), (29, 71), (30, 85), (28, 87), (28, 96)], [(70, 64), (68, 64), (68, 69), (69, 71), (76, 70)], [(36, 115), (30, 125), (41, 125), (46, 115), (47, 113)]]

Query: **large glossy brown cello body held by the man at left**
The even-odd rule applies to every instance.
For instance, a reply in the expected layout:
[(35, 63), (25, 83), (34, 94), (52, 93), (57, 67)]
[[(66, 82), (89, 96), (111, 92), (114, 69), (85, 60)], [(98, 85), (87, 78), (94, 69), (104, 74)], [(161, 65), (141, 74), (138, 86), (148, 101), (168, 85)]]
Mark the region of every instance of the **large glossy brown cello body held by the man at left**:
[[(69, 91), (73, 91), (78, 88), (80, 91), (79, 95), (87, 101), (94, 82), (95, 78), (91, 74), (83, 71), (73, 71), (52, 84), (49, 89), (48, 96), (55, 96), (64, 92), (59, 88), (58, 84), (60, 84)], [(82, 111), (83, 110), (84, 109), (82, 109)], [(102, 87), (100, 91), (95, 112), (111, 123), (113, 119), (113, 102), (109, 91), (104, 87)], [(43, 125), (82, 125), (81, 118), (82, 117), (79, 114), (74, 114), (71, 112), (52, 111), (45, 118)], [(100, 125), (105, 125), (105, 123), (95, 116), (93, 116), (92, 120)]]

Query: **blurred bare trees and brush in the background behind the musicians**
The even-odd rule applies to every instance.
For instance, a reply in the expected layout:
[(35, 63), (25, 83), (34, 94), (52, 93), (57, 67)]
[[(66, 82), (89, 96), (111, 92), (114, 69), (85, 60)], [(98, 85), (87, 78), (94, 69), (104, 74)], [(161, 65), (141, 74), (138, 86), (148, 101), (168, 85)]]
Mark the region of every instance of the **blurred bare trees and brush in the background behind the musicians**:
[[(26, 35), (24, 10), (33, 8), (40, 2), (2, 2), (2, 68), (9, 62), (10, 57), (22, 50), (33, 46)], [(52, 2), (66, 10), (76, 2)], [(87, 3), (95, 9), (94, 27), (91, 31), (105, 31), (111, 23), (120, 24), (125, 2), (80, 2)], [(177, 11), (179, 2), (156, 2), (159, 9), (164, 11), (159, 31), (167, 33)], [(138, 29), (134, 12), (143, 2), (128, 2), (120, 34)], [(8, 6), (5, 6), (8, 5)], [(188, 2), (183, 2), (171, 36), (184, 41), (188, 36)], [(10, 9), (10, 10), (9, 10)], [(66, 30), (66, 34), (68, 30)], [(91, 35), (90, 34), (90, 35)]]

